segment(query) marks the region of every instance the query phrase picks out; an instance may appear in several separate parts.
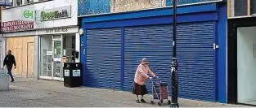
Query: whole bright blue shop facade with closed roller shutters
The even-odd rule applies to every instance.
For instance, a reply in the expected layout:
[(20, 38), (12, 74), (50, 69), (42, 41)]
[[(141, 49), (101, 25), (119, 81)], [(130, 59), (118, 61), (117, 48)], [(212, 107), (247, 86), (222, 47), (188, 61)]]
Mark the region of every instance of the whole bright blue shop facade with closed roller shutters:
[[(83, 86), (131, 92), (147, 58), (171, 96), (172, 7), (80, 18)], [(226, 24), (226, 2), (178, 6), (178, 97), (227, 102)], [(150, 81), (146, 87), (150, 92)]]

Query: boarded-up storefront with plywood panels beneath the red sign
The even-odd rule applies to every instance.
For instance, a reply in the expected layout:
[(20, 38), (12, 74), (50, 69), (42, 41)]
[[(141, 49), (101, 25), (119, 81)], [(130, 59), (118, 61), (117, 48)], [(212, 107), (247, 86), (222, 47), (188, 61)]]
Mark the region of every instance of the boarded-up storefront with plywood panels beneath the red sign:
[[(20, 11), (14, 8), (2, 11), (2, 56), (11, 50), (16, 57), (17, 67), (12, 71), (16, 77), (34, 78), (34, 19), (23, 15), (25, 11), (34, 11), (33, 7), (21, 6), (18, 8)], [(31, 14), (34, 15), (33, 12)]]

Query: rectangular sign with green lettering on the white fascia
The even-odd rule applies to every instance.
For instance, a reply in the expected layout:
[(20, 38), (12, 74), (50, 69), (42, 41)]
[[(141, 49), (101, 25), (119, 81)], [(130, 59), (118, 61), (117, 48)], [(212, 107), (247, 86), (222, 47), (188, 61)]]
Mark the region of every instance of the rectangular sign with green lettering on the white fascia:
[(70, 6), (63, 6), (54, 10), (41, 11), (41, 20), (70, 18), (70, 10)]

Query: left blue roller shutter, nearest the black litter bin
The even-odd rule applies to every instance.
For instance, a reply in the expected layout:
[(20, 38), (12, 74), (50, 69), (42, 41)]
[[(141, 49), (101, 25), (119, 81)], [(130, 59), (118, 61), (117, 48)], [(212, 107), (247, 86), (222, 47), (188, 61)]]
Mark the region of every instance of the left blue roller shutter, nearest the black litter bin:
[(119, 89), (121, 28), (88, 29), (86, 35), (86, 86)]

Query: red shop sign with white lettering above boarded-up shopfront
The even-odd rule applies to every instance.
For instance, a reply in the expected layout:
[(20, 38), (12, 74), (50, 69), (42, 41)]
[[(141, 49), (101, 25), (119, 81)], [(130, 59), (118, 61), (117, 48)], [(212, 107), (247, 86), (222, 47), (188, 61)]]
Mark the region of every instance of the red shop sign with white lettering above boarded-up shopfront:
[(15, 32), (34, 28), (33, 21), (13, 20), (1, 23), (2, 32)]

